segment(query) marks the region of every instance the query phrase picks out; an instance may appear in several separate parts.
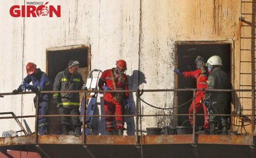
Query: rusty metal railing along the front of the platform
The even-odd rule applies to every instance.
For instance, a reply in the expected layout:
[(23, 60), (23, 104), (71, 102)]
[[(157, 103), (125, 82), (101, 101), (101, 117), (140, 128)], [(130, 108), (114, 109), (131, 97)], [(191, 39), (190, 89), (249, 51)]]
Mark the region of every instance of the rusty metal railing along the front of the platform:
[[(75, 91), (41, 91), (40, 93), (84, 93), (84, 96), (87, 95), (87, 93), (114, 93), (114, 92), (130, 92), (130, 93), (136, 93), (136, 113), (135, 115), (86, 115), (85, 113), (83, 113), (83, 115), (38, 115), (38, 97), (37, 97), (37, 106), (36, 106), (36, 114), (35, 115), (24, 115), (24, 116), (5, 116), (5, 117), (0, 117), (0, 119), (9, 119), (9, 118), (33, 118), (35, 117), (35, 144), (38, 144), (38, 131), (37, 131), (37, 127), (38, 127), (38, 121), (37, 118), (38, 117), (60, 117), (60, 116), (67, 116), (67, 117), (83, 117), (83, 131), (86, 128), (85, 126), (85, 122), (84, 119), (85, 117), (115, 117), (115, 116), (123, 116), (123, 117), (136, 117), (136, 140), (137, 140), (137, 144), (139, 144), (139, 126), (141, 127), (142, 125), (142, 119), (141, 117), (157, 117), (157, 116), (189, 116), (192, 115), (193, 117), (193, 121), (195, 122), (196, 116), (199, 115), (205, 115), (205, 114), (196, 114), (195, 112), (195, 105), (194, 105), (194, 109), (193, 109), (193, 114), (159, 114), (159, 115), (143, 115), (141, 113), (141, 104), (140, 101), (148, 104), (146, 101), (144, 101), (143, 99), (141, 99), (140, 97), (143, 95), (143, 93), (147, 93), (147, 92), (177, 92), (177, 91), (192, 91), (193, 92), (193, 98), (190, 100), (192, 101), (193, 99), (195, 99), (196, 97), (196, 91), (216, 91), (216, 92), (252, 92), (252, 95), (255, 95), (254, 92), (255, 90), (202, 90), (202, 89), (161, 89), (161, 90), (109, 90), (109, 91), (102, 91), (102, 90), (75, 90)], [(31, 94), (33, 92), (21, 92), (19, 94)], [(6, 96), (6, 95), (13, 95), (12, 93), (0, 93), (0, 96)], [(84, 100), (85, 104), (83, 104), (84, 106), (86, 106), (86, 99)], [(186, 102), (187, 103), (187, 102)], [(194, 102), (195, 104), (195, 102)], [(236, 105), (235, 105), (236, 106)], [(153, 106), (154, 107), (154, 106)], [(177, 107), (172, 107), (172, 108), (166, 108), (166, 109), (173, 109), (173, 108), (178, 108)], [(86, 109), (86, 107), (84, 107), (84, 109)], [(252, 104), (252, 109), (255, 109), (255, 105)], [(252, 142), (253, 142), (253, 132), (254, 132), (254, 120), (255, 120), (255, 115), (254, 115), (254, 111), (252, 109), (248, 109), (252, 111), (251, 115), (241, 115), (241, 114), (211, 114), (211, 115), (215, 115), (215, 116), (231, 116), (231, 117), (251, 117), (250, 121), (252, 124)], [(210, 115), (210, 114), (209, 114)], [(142, 129), (140, 130), (142, 131)], [(142, 133), (140, 133), (141, 135)], [(86, 144), (86, 136), (83, 132), (82, 134), (83, 136), (83, 144)], [(193, 124), (193, 140), (196, 143), (196, 126), (195, 124)]]

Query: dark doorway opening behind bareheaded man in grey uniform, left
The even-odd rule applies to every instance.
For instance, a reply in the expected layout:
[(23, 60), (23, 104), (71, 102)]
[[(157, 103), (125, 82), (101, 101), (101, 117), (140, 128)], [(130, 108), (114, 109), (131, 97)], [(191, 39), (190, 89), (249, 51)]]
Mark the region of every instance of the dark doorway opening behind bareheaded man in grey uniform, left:
[[(64, 71), (68, 67), (68, 61), (71, 60), (79, 62), (78, 72), (86, 83), (90, 70), (90, 45), (49, 48), (46, 49), (46, 58), (46, 73), (52, 86), (56, 75)], [(83, 94), (80, 93), (80, 100), (82, 97)], [(53, 101), (51, 101), (48, 111), (49, 115), (58, 114), (58, 109), (53, 105)], [(60, 117), (49, 117), (48, 124), (48, 134), (57, 134), (60, 131)]]

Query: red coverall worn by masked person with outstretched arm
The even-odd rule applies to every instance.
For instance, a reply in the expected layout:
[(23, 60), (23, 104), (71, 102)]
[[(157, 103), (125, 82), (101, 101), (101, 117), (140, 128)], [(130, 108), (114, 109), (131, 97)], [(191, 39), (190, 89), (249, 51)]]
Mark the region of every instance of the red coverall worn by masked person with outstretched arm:
[[(208, 72), (209, 74), (209, 72)], [(204, 89), (207, 88), (207, 79), (208, 79), (208, 74), (201, 75), (201, 69), (197, 69), (195, 71), (191, 72), (183, 72), (184, 77), (189, 77), (189, 78), (194, 78), (196, 79), (196, 88), (197, 89)], [(208, 129), (209, 128), (209, 116), (207, 115), (207, 109), (203, 103), (201, 103), (201, 100), (203, 99), (205, 91), (196, 91), (196, 98), (192, 101), (188, 113), (193, 114), (193, 107), (194, 107), (194, 101), (196, 101), (196, 113), (200, 111), (201, 108), (203, 108), (204, 114), (204, 128)], [(190, 124), (193, 124), (193, 116), (189, 116), (189, 121)], [(196, 120), (197, 122), (197, 120)]]

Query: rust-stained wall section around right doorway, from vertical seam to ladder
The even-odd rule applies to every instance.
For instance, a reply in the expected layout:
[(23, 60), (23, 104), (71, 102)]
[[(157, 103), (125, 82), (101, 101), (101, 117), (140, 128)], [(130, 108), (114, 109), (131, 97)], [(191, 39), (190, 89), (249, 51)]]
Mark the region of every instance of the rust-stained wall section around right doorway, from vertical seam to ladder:
[[(226, 41), (239, 45), (239, 14), (238, 0), (164, 0), (161, 3), (157, 0), (143, 0), (140, 69), (146, 74), (147, 83), (150, 84), (141, 87), (174, 87), (172, 70), (175, 41)], [(234, 52), (238, 54), (239, 49)], [(172, 93), (151, 93), (142, 98), (151, 104), (168, 108), (172, 106), (172, 96)], [(169, 114), (172, 111), (155, 110), (143, 104), (143, 114), (145, 113)], [(161, 127), (167, 125), (168, 121), (166, 117), (144, 117), (143, 126)]]

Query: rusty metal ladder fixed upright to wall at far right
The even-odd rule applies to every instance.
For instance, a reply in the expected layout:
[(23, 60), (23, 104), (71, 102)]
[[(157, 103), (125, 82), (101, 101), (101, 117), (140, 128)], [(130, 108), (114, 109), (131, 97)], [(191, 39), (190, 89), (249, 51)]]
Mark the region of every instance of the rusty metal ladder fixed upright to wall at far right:
[[(251, 18), (251, 19), (250, 19)], [(249, 21), (247, 21), (247, 19)], [(245, 94), (245, 96), (243, 96), (243, 92), (239, 92), (239, 114), (242, 114), (242, 112), (246, 111), (246, 110), (250, 110), (251, 112), (251, 117), (247, 118), (247, 121), (251, 122), (251, 158), (254, 157), (254, 114), (255, 114), (255, 64), (256, 64), (256, 58), (255, 58), (255, 53), (256, 53), (256, 44), (255, 44), (255, 40), (256, 40), (256, 0), (241, 0), (241, 16), (239, 18), (239, 20), (241, 21), (241, 28), (240, 28), (240, 80), (239, 80), (239, 89), (250, 89), (248, 87), (252, 88), (252, 93), (251, 93), (251, 97), (248, 96), (248, 94)], [(246, 34), (246, 32), (248, 32), (248, 28), (251, 31), (251, 35), (248, 36), (248, 34)], [(242, 33), (243, 32), (243, 33)], [(249, 41), (247, 41), (249, 40)], [(245, 47), (246, 46), (246, 42), (250, 42), (250, 47)], [(248, 54), (250, 53), (250, 54)], [(242, 57), (248, 57), (243, 59)], [(251, 58), (251, 59), (250, 59)], [(242, 60), (243, 59), (243, 60)], [(251, 71), (250, 72), (245, 72), (246, 68), (245, 65), (251, 63)], [(243, 68), (242, 68), (243, 66)], [(251, 84), (244, 84), (241, 83), (241, 80), (243, 79), (243, 77), (251, 75)], [(243, 81), (243, 80), (242, 80)], [(242, 109), (240, 108), (240, 101), (244, 100), (244, 99), (251, 99), (251, 108), (250, 109)], [(238, 120), (240, 120), (240, 117), (238, 118)], [(244, 120), (242, 119), (241, 122), (239, 122), (242, 125), (244, 125)], [(242, 128), (242, 127), (238, 127)], [(245, 127), (243, 127), (245, 129)], [(241, 129), (240, 129), (241, 130)], [(242, 130), (241, 130), (242, 131)], [(246, 131), (246, 129), (245, 129)]]

